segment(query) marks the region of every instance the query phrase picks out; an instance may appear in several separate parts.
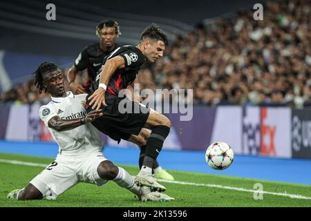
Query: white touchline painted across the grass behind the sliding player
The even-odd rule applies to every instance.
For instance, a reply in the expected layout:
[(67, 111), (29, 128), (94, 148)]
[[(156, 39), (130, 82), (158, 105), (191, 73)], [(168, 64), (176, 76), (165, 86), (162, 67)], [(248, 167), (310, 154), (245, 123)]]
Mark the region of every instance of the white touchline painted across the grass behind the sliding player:
[[(18, 160), (3, 160), (0, 159), (0, 162), (7, 163), (7, 164), (17, 164), (17, 165), (26, 165), (26, 166), (41, 166), (46, 167), (48, 164), (37, 164), (32, 162), (23, 162)], [(288, 197), (292, 199), (300, 199), (300, 200), (311, 200), (311, 197), (304, 196), (304, 195), (296, 195), (296, 194), (289, 194), (289, 193), (274, 193), (274, 192), (268, 192), (268, 191), (256, 191), (254, 189), (244, 189), (240, 187), (234, 187), (234, 186), (221, 186), (216, 184), (196, 184), (194, 182), (180, 182), (175, 180), (162, 180), (157, 179), (160, 182), (167, 182), (171, 184), (180, 184), (180, 185), (189, 185), (189, 186), (207, 186), (211, 188), (219, 188), (219, 189), (229, 189), (233, 191), (242, 191), (242, 192), (249, 192), (249, 193), (263, 193), (263, 194), (270, 194), (270, 195), (279, 195), (283, 197)]]

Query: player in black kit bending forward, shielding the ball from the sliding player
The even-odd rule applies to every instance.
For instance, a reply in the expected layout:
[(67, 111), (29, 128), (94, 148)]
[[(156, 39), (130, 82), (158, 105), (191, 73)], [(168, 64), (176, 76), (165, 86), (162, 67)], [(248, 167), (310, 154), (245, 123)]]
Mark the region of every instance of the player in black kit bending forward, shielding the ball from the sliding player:
[[(153, 109), (127, 97), (120, 97), (119, 93), (135, 80), (145, 60), (153, 63), (163, 57), (167, 44), (167, 35), (156, 24), (147, 27), (138, 46), (122, 46), (105, 57), (95, 79), (96, 90), (86, 98), (87, 111), (102, 109), (102, 117), (93, 122), (99, 131), (118, 142), (121, 139), (133, 143), (145, 140), (146, 153), (135, 182), (156, 191), (166, 190), (154, 179), (153, 168), (164, 140), (169, 135), (171, 122)], [(130, 111), (123, 113), (119, 105), (121, 102), (121, 106), (126, 106), (126, 110)], [(151, 133), (148, 129), (151, 129)]]

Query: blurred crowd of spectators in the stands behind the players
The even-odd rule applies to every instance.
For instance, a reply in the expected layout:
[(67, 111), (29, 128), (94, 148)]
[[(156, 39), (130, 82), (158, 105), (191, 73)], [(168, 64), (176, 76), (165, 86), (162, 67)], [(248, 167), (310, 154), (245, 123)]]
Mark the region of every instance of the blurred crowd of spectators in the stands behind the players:
[[(263, 21), (249, 10), (202, 22), (194, 32), (176, 36), (163, 59), (140, 70), (140, 90), (192, 88), (194, 104), (204, 106), (311, 106), (310, 6), (272, 1), (264, 6)], [(49, 97), (39, 95), (30, 80), (0, 100), (46, 103)]]

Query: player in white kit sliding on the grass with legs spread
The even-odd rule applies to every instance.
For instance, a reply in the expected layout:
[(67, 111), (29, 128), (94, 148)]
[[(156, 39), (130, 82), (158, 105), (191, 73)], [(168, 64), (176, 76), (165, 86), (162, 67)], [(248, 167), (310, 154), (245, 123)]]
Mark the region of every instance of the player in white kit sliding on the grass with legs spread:
[(25, 188), (12, 191), (8, 198), (56, 199), (78, 182), (102, 186), (113, 180), (119, 186), (129, 189), (142, 201), (174, 200), (163, 193), (137, 186), (127, 171), (104, 157), (100, 133), (89, 124), (102, 116), (102, 111), (91, 111), (87, 114), (84, 108), (86, 94), (73, 95), (66, 92), (64, 76), (55, 64), (44, 62), (37, 68), (35, 75), (39, 93), (45, 90), (52, 96), (50, 103), (41, 106), (39, 116), (55, 142), (59, 144), (59, 153), (55, 161)]

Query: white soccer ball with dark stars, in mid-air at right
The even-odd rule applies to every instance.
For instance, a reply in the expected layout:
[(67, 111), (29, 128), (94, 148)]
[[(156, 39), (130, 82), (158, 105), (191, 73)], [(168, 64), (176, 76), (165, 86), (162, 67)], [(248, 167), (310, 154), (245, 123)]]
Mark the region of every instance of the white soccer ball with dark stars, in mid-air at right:
[(234, 152), (225, 142), (215, 142), (207, 148), (205, 160), (212, 169), (224, 170), (232, 164)]

